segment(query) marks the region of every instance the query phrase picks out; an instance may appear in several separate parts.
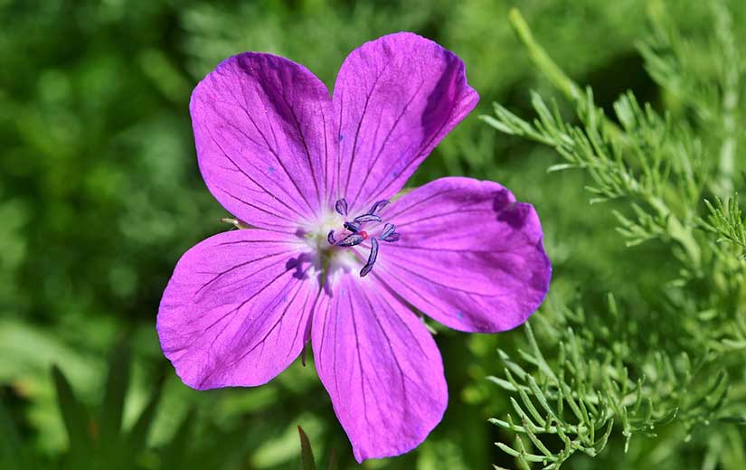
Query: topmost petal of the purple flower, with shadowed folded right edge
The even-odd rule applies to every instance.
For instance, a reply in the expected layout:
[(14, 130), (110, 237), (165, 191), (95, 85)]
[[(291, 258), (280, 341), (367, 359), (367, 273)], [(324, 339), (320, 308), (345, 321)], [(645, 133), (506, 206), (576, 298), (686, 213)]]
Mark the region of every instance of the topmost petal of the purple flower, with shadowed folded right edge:
[(338, 196), (357, 213), (397, 193), (478, 99), (464, 63), (435, 42), (395, 33), (364, 43), (335, 82)]

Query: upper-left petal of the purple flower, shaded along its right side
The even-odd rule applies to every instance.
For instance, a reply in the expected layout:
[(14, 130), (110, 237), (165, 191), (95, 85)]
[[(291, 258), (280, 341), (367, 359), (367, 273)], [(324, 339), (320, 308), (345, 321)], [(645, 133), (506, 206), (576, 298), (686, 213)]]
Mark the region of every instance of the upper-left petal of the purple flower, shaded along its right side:
[(233, 56), (197, 85), (190, 110), (204, 181), (242, 221), (292, 231), (326, 205), (332, 104), (305, 67), (271, 54)]

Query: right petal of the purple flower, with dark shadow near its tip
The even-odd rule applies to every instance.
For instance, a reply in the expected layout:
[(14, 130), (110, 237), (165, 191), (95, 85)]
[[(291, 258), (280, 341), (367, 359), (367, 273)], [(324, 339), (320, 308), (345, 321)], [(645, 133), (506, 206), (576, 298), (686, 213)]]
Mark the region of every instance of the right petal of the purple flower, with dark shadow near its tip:
[(441, 178), (402, 196), (382, 217), (401, 240), (382, 246), (373, 274), (451, 328), (509, 330), (549, 289), (539, 217), (500, 184)]

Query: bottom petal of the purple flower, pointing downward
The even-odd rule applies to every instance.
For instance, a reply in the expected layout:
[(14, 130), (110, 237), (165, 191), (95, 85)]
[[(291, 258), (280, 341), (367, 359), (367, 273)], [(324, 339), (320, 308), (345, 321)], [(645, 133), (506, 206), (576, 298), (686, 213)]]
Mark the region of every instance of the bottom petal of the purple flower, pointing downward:
[(448, 404), (440, 353), (378, 281), (343, 276), (314, 314), (316, 369), (358, 462), (417, 447)]

